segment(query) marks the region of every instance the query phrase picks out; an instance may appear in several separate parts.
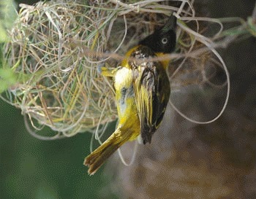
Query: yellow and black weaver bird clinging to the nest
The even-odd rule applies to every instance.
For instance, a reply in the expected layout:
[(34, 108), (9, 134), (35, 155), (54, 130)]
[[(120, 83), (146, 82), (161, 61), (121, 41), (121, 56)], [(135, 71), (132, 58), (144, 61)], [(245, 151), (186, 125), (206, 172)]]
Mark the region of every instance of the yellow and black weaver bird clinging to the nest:
[(114, 80), (118, 125), (115, 132), (86, 157), (84, 165), (89, 166), (89, 174), (94, 174), (125, 142), (135, 140), (140, 135), (143, 144), (151, 142), (165, 114), (170, 82), (166, 74), (169, 61), (148, 61), (148, 58), (175, 49), (175, 29), (176, 17), (171, 16), (165, 26), (129, 50), (121, 66), (100, 68), (102, 75), (113, 77)]

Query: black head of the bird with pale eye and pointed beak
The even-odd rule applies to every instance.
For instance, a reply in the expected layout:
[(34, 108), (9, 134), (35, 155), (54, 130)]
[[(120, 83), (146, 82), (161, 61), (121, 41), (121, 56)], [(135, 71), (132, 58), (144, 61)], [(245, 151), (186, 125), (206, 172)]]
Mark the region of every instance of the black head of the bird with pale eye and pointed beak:
[(139, 44), (150, 47), (154, 52), (173, 52), (176, 47), (176, 20), (176, 17), (171, 15), (165, 26), (154, 31)]

